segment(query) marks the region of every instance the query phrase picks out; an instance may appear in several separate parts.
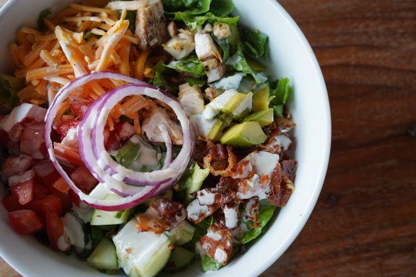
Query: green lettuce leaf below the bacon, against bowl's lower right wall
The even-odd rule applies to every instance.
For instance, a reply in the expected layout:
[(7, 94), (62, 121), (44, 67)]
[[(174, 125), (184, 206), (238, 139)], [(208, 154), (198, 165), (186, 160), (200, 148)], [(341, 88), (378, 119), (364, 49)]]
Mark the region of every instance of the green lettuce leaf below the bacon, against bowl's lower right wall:
[(268, 199), (261, 200), (259, 206), (259, 228), (254, 228), (253, 222), (251, 220), (245, 222), (245, 226), (247, 226), (248, 231), (246, 231), (243, 237), (239, 240), (239, 242), (242, 244), (246, 244), (257, 238), (266, 227), (266, 224), (269, 222), (270, 218), (272, 218), (273, 213), (275, 213), (276, 206), (269, 204)]

